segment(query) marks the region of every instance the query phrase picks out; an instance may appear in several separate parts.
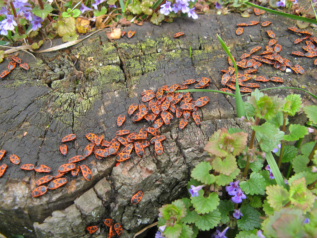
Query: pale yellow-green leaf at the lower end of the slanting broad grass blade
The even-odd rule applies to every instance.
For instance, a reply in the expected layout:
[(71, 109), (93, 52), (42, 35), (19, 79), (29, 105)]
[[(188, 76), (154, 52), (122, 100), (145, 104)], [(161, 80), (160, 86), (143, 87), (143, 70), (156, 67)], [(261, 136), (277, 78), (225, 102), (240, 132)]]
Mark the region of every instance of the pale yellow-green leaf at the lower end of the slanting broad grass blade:
[(279, 211), (287, 202), (289, 193), (286, 188), (280, 185), (270, 185), (266, 187), (268, 203), (272, 208)]

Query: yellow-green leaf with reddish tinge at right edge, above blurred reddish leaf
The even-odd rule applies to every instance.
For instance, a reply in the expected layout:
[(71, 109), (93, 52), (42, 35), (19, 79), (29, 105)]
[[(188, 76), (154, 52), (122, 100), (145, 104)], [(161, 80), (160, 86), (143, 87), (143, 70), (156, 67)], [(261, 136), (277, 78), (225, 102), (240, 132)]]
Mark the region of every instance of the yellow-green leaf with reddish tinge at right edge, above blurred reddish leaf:
[(307, 189), (304, 177), (292, 182), (289, 188), (289, 200), (295, 207), (301, 208), (304, 212), (313, 207), (316, 196)]

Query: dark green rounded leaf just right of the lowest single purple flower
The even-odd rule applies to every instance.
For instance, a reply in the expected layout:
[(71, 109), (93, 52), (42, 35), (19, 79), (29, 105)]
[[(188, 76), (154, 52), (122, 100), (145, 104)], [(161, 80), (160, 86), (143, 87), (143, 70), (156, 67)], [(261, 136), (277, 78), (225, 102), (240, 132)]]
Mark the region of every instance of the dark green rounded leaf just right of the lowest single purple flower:
[(248, 231), (260, 227), (260, 213), (255, 208), (246, 204), (241, 206), (240, 211), (243, 216), (237, 220), (238, 228)]

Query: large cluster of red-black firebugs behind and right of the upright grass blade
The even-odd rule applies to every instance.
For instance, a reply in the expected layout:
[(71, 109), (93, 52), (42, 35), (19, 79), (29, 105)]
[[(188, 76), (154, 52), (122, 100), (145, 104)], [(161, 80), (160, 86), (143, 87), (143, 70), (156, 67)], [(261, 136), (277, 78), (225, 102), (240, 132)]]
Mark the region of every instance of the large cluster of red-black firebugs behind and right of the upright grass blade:
[[(238, 27), (242, 26), (250, 26), (250, 25), (255, 25), (258, 24), (258, 21), (252, 21), (249, 23), (238, 23)], [(266, 27), (271, 22), (266, 21), (263, 22), (261, 25), (262, 27)], [(295, 31), (294, 27), (288, 28), (289, 30)], [(298, 30), (298, 29), (297, 29)], [(240, 88), (241, 92), (252, 92), (251, 88), (259, 88), (260, 85), (258, 83), (244, 83), (250, 79), (254, 79), (256, 82), (276, 82), (276, 83), (283, 83), (283, 79), (280, 77), (273, 76), (271, 78), (261, 75), (261, 76), (256, 76), (255, 73), (257, 70), (261, 67), (262, 63), (270, 64), (273, 65), (275, 69), (280, 69), (281, 71), (286, 70), (287, 67), (292, 69), (292, 71), (296, 74), (303, 74), (304, 69), (298, 65), (295, 64), (292, 66), (292, 63), (290, 60), (287, 58), (283, 58), (280, 56), (278, 53), (282, 50), (282, 46), (277, 43), (277, 40), (275, 39), (275, 34), (272, 30), (267, 30), (266, 31), (268, 36), (271, 38), (268, 41), (268, 45), (265, 47), (265, 50), (260, 52), (259, 55), (253, 55), (251, 59), (247, 59), (250, 57), (252, 54), (256, 53), (257, 51), (261, 50), (261, 46), (256, 46), (252, 48), (249, 52), (243, 53), (243, 55), (240, 57), (240, 61), (236, 61), (236, 65), (241, 68), (241, 69), (246, 69), (244, 70), (243, 74), (238, 73), (238, 84), (242, 88)], [(296, 31), (295, 31), (296, 32)], [(306, 36), (309, 34), (307, 31), (301, 31), (298, 33), (301, 34), (306, 34)], [(307, 36), (308, 38), (308, 36)], [(314, 39), (314, 38), (313, 38)], [(317, 43), (317, 38), (316, 43)], [(313, 43), (309, 42), (307, 45), (310, 45), (310, 47), (314, 47)], [(312, 48), (314, 49), (314, 48)], [(317, 52), (317, 50), (316, 50)], [(301, 52), (293, 52), (293, 54), (299, 55)], [(308, 53), (308, 52), (307, 52)], [(309, 53), (312, 53), (311, 51)], [(304, 56), (303, 53), (301, 53), (302, 56)], [(229, 63), (229, 68), (228, 69), (223, 69), (221, 72), (223, 73), (222, 79), (221, 79), (221, 84), (228, 87), (228, 88), (222, 88), (220, 89), (221, 91), (232, 93), (231, 89), (236, 90), (236, 74), (235, 69), (233, 67), (233, 63), (231, 62), (230, 58), (228, 57), (228, 63)], [(317, 64), (317, 60), (316, 60)]]

